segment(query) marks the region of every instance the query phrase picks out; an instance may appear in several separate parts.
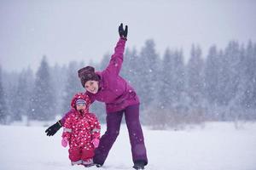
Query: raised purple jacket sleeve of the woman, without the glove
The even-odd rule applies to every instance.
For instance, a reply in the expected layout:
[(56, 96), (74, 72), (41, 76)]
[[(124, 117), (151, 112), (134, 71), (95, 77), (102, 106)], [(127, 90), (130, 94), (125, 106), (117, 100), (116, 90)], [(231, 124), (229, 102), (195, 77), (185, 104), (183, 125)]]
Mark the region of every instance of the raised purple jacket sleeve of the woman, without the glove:
[(125, 39), (119, 38), (119, 41), (114, 48), (114, 53), (111, 56), (110, 62), (104, 72), (113, 76), (119, 75), (124, 59), (125, 42)]

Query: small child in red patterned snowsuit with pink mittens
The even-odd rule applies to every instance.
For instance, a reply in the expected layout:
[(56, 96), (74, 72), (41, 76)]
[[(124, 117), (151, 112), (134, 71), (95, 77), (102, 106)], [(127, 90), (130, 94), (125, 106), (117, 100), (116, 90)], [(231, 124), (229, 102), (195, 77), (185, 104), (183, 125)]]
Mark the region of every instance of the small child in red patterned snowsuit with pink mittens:
[(93, 166), (94, 150), (98, 147), (101, 125), (96, 116), (89, 113), (90, 99), (85, 93), (75, 94), (63, 127), (61, 144), (69, 144), (72, 165)]

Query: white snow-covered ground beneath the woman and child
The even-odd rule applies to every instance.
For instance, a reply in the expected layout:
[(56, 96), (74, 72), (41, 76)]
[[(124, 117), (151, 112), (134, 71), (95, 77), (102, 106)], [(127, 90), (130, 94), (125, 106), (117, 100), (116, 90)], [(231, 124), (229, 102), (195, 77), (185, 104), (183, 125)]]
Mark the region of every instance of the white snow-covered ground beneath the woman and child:
[[(47, 137), (46, 127), (0, 126), (1, 170), (71, 170), (67, 148), (61, 147), (61, 130)], [(106, 127), (103, 126), (102, 133)], [(153, 131), (143, 127), (152, 170), (255, 170), (256, 123), (235, 128), (233, 123), (211, 122), (204, 128)], [(132, 169), (126, 127), (102, 169)], [(88, 169), (101, 169), (88, 167)]]

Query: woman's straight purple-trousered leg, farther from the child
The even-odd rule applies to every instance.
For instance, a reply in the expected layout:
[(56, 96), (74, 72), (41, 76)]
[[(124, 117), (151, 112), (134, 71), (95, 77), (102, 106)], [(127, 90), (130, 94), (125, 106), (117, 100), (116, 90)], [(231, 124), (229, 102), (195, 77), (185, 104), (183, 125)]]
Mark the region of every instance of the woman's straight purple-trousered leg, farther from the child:
[(139, 105), (125, 108), (125, 122), (128, 128), (132, 160), (134, 164), (148, 164), (147, 151), (144, 144), (143, 129), (139, 120)]

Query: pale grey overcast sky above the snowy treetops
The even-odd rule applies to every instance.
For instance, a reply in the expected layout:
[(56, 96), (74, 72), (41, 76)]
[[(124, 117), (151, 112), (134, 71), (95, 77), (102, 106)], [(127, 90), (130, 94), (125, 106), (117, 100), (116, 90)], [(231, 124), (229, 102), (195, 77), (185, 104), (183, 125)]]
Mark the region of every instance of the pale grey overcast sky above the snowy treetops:
[(153, 38), (157, 52), (191, 44), (204, 55), (212, 44), (256, 41), (253, 0), (0, 0), (0, 65), (5, 71), (36, 71), (43, 55), (49, 65), (71, 60), (98, 62), (113, 53), (118, 26), (129, 26), (126, 47), (140, 50)]

